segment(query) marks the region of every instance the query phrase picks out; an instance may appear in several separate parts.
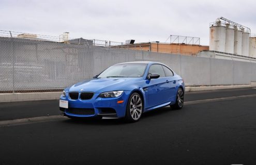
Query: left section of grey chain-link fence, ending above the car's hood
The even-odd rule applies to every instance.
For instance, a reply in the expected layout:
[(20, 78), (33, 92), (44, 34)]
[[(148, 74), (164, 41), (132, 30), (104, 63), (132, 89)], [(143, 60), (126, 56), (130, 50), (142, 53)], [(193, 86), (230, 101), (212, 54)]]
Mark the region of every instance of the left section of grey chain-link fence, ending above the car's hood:
[(91, 47), (0, 38), (0, 91), (62, 89), (91, 77)]

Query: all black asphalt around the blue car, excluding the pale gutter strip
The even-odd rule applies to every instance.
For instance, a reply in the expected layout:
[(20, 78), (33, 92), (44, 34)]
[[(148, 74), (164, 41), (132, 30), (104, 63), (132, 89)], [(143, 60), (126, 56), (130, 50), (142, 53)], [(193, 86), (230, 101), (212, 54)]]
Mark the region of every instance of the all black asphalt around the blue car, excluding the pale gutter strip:
[[(186, 101), (251, 94), (256, 89), (191, 92)], [(164, 107), (132, 124), (66, 119), (0, 127), (0, 164), (256, 164), (255, 101)], [(58, 114), (57, 101), (44, 103), (2, 103), (1, 120), (10, 112), (19, 113), (13, 119)]]

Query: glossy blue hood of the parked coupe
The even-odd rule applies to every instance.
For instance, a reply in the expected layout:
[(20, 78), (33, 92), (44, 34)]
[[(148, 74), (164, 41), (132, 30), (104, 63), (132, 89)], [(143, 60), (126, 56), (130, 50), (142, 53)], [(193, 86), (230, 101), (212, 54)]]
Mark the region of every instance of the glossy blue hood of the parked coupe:
[(122, 86), (137, 82), (142, 78), (133, 78), (133, 77), (118, 77), (118, 78), (97, 78), (91, 80), (84, 80), (80, 83), (77, 83), (69, 88), (69, 92), (94, 92), (102, 93), (107, 91), (115, 90), (124, 90), (121, 89)]

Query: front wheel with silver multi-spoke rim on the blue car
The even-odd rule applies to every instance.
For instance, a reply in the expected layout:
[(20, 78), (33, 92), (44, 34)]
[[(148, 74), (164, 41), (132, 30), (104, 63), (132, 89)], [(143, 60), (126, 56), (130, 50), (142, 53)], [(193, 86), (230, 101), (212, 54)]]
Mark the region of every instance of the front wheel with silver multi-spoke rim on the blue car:
[(143, 112), (143, 101), (139, 93), (134, 92), (130, 95), (127, 106), (125, 120), (129, 123), (140, 120)]

